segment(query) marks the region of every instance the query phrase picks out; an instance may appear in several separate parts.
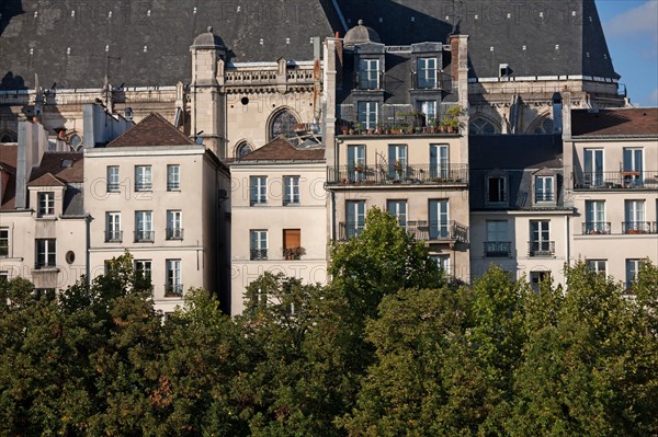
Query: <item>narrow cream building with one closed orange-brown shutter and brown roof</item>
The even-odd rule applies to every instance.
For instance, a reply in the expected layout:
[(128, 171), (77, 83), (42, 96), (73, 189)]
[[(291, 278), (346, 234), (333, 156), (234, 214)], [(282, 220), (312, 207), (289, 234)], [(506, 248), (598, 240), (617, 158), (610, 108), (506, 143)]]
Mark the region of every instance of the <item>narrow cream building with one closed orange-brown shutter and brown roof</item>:
[(230, 164), (234, 315), (264, 272), (327, 280), (325, 148), (313, 135), (294, 142), (281, 136)]

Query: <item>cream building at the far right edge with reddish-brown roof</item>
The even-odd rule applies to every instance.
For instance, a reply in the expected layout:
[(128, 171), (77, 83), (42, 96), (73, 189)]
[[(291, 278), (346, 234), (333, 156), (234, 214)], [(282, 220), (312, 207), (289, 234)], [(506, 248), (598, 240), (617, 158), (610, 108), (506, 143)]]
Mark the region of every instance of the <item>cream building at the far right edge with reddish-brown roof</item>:
[(658, 108), (579, 110), (565, 131), (572, 257), (626, 284), (658, 263)]

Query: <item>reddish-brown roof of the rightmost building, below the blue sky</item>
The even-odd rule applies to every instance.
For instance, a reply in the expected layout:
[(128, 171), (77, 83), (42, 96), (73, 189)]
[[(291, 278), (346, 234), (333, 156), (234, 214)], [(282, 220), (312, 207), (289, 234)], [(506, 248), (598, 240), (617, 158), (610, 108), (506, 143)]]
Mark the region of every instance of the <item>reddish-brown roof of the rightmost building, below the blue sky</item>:
[(658, 137), (658, 107), (575, 110), (571, 135)]

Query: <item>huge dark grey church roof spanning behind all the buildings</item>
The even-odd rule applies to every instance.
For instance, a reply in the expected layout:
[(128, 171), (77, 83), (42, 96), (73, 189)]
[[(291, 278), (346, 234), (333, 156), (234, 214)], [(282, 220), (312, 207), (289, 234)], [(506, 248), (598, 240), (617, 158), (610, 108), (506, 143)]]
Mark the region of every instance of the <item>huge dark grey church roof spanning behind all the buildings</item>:
[[(389, 46), (468, 35), (472, 77), (509, 64), (517, 77), (617, 78), (594, 0), (336, 2), (349, 27), (363, 19)], [(236, 62), (309, 60), (310, 37), (347, 31), (333, 0), (2, 0), (0, 13), (0, 90), (33, 88), (34, 73), (58, 88), (101, 88), (106, 73), (115, 85), (189, 83), (190, 46), (208, 25)]]

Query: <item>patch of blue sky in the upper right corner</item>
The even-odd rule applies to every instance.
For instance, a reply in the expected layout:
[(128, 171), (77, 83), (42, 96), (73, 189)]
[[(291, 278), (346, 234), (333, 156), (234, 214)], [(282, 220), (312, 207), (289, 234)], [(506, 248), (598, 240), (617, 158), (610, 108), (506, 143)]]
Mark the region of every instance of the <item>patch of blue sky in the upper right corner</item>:
[(595, 0), (614, 68), (631, 103), (658, 106), (658, 0)]

